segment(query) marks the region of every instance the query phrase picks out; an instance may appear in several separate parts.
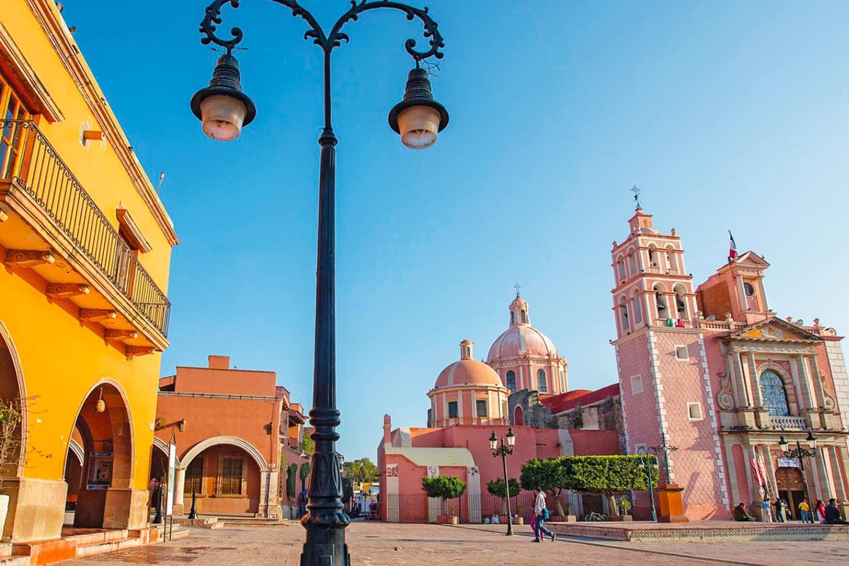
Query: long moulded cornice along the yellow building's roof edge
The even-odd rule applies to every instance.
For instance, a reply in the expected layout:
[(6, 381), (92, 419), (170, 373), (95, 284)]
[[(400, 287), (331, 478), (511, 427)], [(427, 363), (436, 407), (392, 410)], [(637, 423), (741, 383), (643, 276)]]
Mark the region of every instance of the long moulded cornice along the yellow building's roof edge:
[(88, 67), (85, 59), (80, 53), (80, 48), (70, 35), (65, 20), (59, 14), (52, 0), (26, 0), (32, 14), (35, 16), (45, 35), (50, 39), (50, 44), (56, 51), (59, 60), (65, 65), (70, 78), (76, 84), (85, 100), (88, 109), (98, 124), (104, 129), (104, 136), (115, 149), (115, 154), (121, 165), (127, 170), (133, 186), (148, 206), (150, 213), (154, 216), (162, 233), (165, 234), (168, 244), (175, 246), (180, 243), (177, 233), (174, 231), (174, 223), (168, 216), (165, 206), (156, 194), (153, 184), (144, 172), (138, 158), (130, 149), (127, 135), (121, 129), (118, 119), (106, 102), (103, 91), (100, 90), (92, 70)]

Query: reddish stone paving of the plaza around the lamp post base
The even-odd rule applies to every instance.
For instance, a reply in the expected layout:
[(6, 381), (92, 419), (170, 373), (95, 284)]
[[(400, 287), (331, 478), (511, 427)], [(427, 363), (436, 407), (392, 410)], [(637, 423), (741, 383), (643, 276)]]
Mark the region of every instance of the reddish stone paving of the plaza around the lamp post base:
[[(527, 526), (517, 535), (503, 535), (504, 525), (381, 524), (355, 522), (347, 530), (353, 566), (478, 563), (580, 564), (608, 566), (640, 563), (640, 566), (705, 566), (706, 564), (756, 564), (784, 566), (788, 563), (847, 564), (849, 542), (616, 542), (558, 539), (531, 543)], [(283, 529), (192, 529), (179, 541), (143, 546), (92, 558), (80, 558), (70, 566), (126, 566), (129, 564), (222, 564), (297, 566), (303, 530), (292, 523)]]

